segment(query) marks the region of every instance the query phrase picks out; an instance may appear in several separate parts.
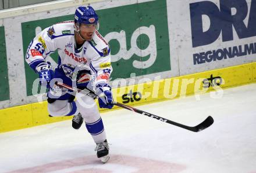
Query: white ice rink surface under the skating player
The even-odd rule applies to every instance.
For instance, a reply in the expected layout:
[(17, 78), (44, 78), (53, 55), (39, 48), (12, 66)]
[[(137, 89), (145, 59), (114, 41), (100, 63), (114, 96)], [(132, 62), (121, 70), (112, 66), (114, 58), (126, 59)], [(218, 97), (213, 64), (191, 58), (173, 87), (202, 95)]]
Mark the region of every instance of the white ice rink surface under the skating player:
[(214, 124), (191, 132), (119, 109), (102, 113), (111, 159), (102, 164), (95, 143), (71, 120), (0, 134), (0, 172), (256, 172), (256, 84), (136, 106), (195, 126), (207, 116)]

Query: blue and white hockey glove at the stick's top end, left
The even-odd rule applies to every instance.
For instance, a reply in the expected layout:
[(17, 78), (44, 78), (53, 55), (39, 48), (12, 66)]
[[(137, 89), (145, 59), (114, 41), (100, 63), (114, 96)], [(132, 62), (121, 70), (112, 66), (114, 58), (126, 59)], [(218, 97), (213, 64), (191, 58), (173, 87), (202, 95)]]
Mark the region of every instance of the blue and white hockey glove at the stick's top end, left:
[(42, 86), (46, 86), (47, 88), (50, 87), (50, 82), (54, 76), (54, 69), (52, 65), (48, 62), (41, 62), (37, 65), (36, 71), (39, 74), (40, 84)]

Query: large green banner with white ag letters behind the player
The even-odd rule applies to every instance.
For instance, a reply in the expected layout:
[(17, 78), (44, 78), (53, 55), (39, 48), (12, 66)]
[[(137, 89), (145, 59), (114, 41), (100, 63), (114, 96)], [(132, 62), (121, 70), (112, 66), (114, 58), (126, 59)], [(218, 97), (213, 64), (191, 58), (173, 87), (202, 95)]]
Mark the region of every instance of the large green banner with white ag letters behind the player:
[[(99, 33), (111, 46), (112, 80), (170, 71), (170, 48), (166, 1), (150, 1), (116, 8), (97, 10)], [(43, 30), (60, 21), (73, 20), (73, 14), (22, 23), (24, 57), (35, 36), (35, 28)], [(58, 53), (51, 54), (57, 62)], [(38, 77), (26, 62), (27, 95), (32, 95)]]

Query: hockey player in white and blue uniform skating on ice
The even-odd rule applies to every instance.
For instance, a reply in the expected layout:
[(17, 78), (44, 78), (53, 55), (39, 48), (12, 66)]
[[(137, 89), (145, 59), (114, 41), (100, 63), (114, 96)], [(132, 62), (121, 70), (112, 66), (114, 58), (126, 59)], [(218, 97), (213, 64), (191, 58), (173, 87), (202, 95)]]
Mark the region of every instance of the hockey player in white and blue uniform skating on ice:
[[(63, 21), (41, 31), (31, 41), (26, 62), (39, 75), (42, 86), (49, 88), (48, 112), (51, 116), (71, 116), (73, 128), (79, 129), (83, 121), (97, 144), (95, 151), (103, 163), (109, 160), (109, 146), (104, 125), (93, 98), (74, 94), (56, 86), (59, 81), (79, 89), (90, 89), (99, 95), (100, 108), (113, 107), (110, 47), (97, 31), (98, 15), (91, 6), (80, 6), (74, 21)], [(58, 50), (55, 69), (45, 58)], [(75, 96), (74, 96), (75, 95)], [(74, 101), (74, 98), (77, 98)]]

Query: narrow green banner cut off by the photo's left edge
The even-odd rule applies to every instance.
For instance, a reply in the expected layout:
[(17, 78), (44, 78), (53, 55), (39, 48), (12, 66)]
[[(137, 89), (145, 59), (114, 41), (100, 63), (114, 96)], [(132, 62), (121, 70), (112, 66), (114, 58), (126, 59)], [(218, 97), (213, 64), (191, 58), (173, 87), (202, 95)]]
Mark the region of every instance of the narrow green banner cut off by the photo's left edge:
[(10, 92), (4, 27), (0, 27), (0, 79), (0, 101), (9, 100)]

